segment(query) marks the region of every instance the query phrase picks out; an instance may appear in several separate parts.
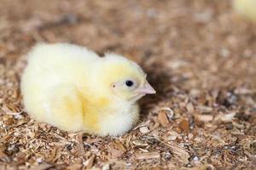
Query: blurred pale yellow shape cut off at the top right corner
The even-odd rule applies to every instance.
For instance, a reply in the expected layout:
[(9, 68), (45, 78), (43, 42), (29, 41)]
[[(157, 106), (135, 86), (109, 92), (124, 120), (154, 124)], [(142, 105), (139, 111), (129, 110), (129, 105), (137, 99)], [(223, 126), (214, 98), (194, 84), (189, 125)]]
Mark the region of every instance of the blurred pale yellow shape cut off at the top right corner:
[(234, 0), (233, 6), (239, 14), (256, 22), (256, 0)]

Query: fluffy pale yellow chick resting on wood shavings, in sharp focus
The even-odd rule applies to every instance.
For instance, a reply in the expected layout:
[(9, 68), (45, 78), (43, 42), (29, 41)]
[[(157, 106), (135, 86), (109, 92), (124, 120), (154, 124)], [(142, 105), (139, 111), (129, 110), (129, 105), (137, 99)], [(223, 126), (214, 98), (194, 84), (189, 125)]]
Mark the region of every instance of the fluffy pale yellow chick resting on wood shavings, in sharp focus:
[(102, 136), (127, 132), (139, 118), (137, 99), (155, 94), (135, 62), (68, 43), (32, 48), (20, 88), (38, 122)]

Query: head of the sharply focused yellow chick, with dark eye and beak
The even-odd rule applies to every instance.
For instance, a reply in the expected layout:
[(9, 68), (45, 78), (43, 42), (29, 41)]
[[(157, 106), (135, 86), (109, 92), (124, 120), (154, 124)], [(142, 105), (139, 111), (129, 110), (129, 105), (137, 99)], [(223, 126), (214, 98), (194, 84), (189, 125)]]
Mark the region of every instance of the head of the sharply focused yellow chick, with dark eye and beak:
[(99, 80), (102, 88), (115, 98), (136, 102), (145, 94), (155, 94), (141, 67), (122, 56), (107, 54), (102, 58), (100, 70)]

